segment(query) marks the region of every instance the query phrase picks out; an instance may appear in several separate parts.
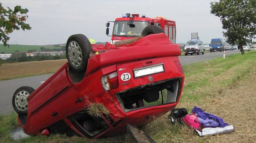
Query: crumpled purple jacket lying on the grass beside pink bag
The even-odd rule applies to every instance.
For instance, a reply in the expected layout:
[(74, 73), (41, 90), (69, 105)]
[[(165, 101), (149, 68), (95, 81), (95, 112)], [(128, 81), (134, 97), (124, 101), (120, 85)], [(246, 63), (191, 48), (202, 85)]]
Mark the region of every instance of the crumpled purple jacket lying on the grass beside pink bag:
[(197, 117), (200, 124), (204, 127), (225, 127), (228, 126), (228, 123), (225, 123), (221, 118), (213, 114), (206, 113), (204, 110), (194, 107), (192, 112), (197, 114)]

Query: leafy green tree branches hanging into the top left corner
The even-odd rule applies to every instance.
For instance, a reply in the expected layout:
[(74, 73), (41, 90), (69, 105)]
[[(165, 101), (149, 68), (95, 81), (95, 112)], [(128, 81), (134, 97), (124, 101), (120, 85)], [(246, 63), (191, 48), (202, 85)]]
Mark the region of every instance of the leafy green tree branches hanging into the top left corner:
[(25, 23), (28, 18), (28, 9), (22, 8), (21, 6), (15, 6), (14, 10), (7, 7), (4, 8), (2, 3), (0, 3), (0, 41), (4, 43), (4, 46), (9, 46), (7, 44), (10, 37), (8, 34), (12, 33), (13, 30), (30, 30), (29, 24)]

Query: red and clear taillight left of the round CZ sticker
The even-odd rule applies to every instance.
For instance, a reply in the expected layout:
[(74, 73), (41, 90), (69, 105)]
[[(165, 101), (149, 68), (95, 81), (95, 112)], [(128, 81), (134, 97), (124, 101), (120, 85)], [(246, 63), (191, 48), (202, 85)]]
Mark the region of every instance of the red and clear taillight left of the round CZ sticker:
[(110, 74), (106, 74), (105, 76), (102, 76), (101, 84), (105, 90), (111, 90), (111, 89), (117, 88), (118, 87), (117, 71), (112, 72)]

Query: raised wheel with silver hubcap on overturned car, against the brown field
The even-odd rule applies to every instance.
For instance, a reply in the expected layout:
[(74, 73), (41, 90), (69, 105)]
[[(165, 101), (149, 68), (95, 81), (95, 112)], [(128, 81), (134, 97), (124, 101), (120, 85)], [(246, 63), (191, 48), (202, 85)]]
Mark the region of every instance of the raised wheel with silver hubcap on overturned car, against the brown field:
[(74, 34), (67, 39), (67, 60), (74, 71), (86, 70), (91, 51), (91, 43), (85, 35)]

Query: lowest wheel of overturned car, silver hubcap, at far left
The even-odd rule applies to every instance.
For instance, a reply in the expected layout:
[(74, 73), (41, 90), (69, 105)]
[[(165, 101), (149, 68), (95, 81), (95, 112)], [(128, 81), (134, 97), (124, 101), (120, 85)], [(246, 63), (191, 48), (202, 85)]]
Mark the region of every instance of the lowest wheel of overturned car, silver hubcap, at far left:
[(31, 95), (35, 91), (34, 88), (29, 86), (22, 86), (18, 88), (13, 94), (13, 109), (19, 115), (27, 115), (28, 114), (28, 96)]

